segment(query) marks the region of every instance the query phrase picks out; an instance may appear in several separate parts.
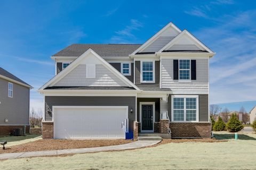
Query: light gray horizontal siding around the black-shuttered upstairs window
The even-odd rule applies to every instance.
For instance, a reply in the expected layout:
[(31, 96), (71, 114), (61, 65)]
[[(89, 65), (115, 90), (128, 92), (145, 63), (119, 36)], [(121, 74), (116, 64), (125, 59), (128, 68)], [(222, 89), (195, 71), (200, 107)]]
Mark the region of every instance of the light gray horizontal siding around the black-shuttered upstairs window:
[(196, 60), (196, 80), (191, 82), (179, 82), (173, 80), (173, 59), (162, 60), (162, 88), (170, 88), (172, 91), (202, 91), (208, 92), (208, 60)]

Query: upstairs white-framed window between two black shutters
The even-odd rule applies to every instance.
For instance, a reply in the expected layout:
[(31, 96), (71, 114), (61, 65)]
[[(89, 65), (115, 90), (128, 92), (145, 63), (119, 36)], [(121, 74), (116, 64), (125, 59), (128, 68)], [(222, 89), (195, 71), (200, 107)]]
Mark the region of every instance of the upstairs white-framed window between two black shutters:
[(190, 60), (179, 60), (179, 79), (190, 80)]

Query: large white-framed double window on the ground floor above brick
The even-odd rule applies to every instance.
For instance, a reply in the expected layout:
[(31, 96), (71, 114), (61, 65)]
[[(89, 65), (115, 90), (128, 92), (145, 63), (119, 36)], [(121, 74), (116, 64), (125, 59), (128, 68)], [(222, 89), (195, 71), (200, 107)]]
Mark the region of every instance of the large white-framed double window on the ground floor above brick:
[(172, 97), (172, 121), (198, 121), (198, 96)]

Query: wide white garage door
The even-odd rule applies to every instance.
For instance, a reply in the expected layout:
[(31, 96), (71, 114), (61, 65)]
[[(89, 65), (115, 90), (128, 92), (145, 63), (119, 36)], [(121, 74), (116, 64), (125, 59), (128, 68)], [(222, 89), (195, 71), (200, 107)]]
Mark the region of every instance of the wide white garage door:
[(55, 139), (125, 138), (127, 106), (53, 106)]

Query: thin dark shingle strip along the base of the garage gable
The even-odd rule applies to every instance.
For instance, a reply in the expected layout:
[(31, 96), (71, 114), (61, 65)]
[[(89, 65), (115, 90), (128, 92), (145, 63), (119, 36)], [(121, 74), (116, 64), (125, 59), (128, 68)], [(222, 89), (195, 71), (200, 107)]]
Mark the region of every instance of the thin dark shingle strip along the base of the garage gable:
[(135, 90), (133, 87), (52, 86), (44, 90)]

